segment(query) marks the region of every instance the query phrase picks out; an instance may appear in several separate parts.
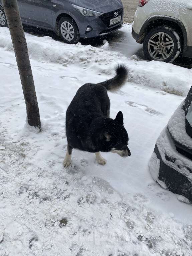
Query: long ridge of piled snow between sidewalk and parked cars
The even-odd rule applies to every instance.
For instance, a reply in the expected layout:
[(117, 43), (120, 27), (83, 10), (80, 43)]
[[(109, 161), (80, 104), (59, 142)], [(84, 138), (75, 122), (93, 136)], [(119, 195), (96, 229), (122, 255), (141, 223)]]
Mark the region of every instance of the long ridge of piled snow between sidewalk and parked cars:
[[(130, 27), (125, 26), (123, 31), (126, 28), (130, 31)], [(60, 63), (65, 67), (80, 64), (90, 71), (95, 69), (107, 75), (114, 74), (117, 62), (123, 62), (130, 70), (129, 82), (180, 96), (187, 95), (192, 84), (192, 70), (159, 61), (139, 61), (136, 57), (127, 59), (119, 52), (109, 51), (107, 41), (101, 48), (96, 48), (81, 43), (69, 45), (48, 36), (36, 37), (27, 33), (26, 39), (30, 58), (41, 62)], [(0, 47), (13, 51), (8, 28), (0, 28)], [(102, 64), (106, 66), (104, 69), (100, 68)]]

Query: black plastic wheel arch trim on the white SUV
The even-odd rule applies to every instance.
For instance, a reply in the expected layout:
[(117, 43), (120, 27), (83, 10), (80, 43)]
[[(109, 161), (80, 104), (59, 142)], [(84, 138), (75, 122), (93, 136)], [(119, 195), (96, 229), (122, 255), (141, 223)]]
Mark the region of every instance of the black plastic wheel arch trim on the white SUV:
[(187, 48), (187, 31), (185, 29), (185, 26), (183, 25), (183, 23), (173, 17), (169, 17), (169, 16), (153, 16), (152, 18), (148, 19), (142, 26), (141, 30), (140, 30), (140, 36), (141, 36), (141, 40), (140, 43), (143, 43), (145, 35), (152, 29), (155, 28), (157, 26), (171, 26), (173, 27), (179, 34), (180, 38), (181, 38), (181, 42), (183, 45), (183, 51), (186, 50)]

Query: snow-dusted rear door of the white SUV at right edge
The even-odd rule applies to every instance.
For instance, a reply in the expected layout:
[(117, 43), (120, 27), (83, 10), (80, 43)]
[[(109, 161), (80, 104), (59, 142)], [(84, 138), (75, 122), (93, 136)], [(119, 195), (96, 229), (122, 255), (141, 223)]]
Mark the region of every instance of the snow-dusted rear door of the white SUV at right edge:
[(187, 45), (192, 46), (192, 0), (183, 0), (179, 10), (179, 20), (187, 31)]

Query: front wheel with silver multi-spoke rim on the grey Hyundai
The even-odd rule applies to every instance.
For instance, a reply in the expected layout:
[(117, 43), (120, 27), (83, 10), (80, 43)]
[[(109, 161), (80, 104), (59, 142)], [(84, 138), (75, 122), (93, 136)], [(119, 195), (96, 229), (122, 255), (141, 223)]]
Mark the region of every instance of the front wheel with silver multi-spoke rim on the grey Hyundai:
[(62, 17), (58, 23), (59, 35), (65, 43), (75, 44), (79, 41), (79, 30), (72, 18)]

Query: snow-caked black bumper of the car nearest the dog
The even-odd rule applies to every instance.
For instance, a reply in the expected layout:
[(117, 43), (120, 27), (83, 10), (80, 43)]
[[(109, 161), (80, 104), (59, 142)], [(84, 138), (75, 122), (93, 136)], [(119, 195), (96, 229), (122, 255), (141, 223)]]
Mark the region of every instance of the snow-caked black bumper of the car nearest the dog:
[(163, 188), (172, 191), (179, 200), (192, 203), (192, 162), (180, 154), (174, 141), (165, 128), (155, 145), (149, 162), (153, 179)]

